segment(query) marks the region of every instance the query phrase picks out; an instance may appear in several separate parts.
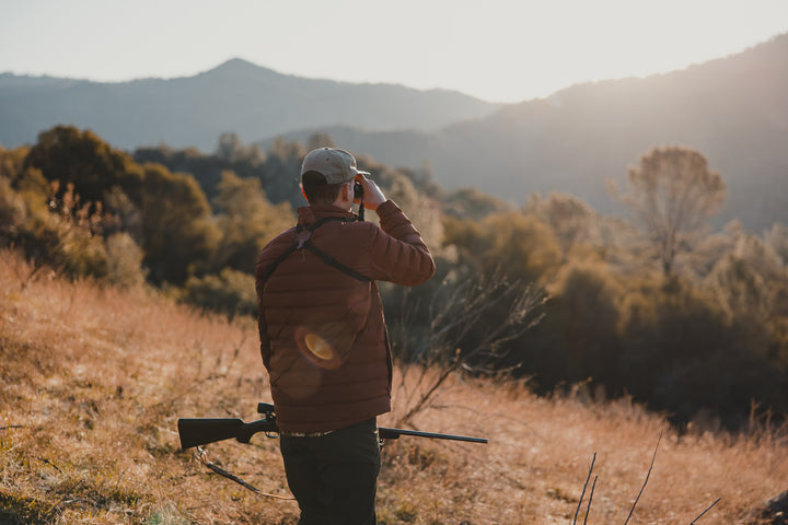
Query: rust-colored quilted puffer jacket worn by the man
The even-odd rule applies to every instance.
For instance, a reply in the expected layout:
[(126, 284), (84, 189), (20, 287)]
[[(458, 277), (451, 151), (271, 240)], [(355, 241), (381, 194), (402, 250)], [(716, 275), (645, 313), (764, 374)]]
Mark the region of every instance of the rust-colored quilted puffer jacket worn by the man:
[[(255, 270), (260, 354), (279, 429), (337, 430), (391, 410), (392, 360), (375, 281), (416, 285), (434, 273), (421, 236), (392, 201), (370, 222), (333, 206), (299, 209), (299, 226), (271, 241)], [(314, 232), (308, 226), (327, 219)], [(357, 272), (326, 262), (318, 250)], [(366, 278), (366, 279), (364, 279)]]

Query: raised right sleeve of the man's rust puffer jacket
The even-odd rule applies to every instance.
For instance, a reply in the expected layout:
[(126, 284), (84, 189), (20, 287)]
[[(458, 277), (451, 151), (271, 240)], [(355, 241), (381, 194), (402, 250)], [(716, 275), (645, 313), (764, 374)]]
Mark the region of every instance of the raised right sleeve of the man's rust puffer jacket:
[(386, 200), (376, 213), (381, 228), (375, 228), (370, 236), (369, 277), (409, 287), (432, 277), (436, 270), (432, 256), (399, 207)]

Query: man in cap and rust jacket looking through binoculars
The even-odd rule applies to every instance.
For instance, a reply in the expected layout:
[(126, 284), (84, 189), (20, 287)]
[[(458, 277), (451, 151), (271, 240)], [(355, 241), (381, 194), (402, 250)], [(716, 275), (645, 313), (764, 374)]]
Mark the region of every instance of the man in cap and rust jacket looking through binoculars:
[[(310, 152), (309, 206), (257, 259), (260, 354), (300, 525), (375, 523), (376, 416), (391, 410), (392, 384), (375, 281), (416, 285), (434, 273), (419, 233), (364, 175), (346, 151)], [(355, 184), (380, 228), (351, 212)]]

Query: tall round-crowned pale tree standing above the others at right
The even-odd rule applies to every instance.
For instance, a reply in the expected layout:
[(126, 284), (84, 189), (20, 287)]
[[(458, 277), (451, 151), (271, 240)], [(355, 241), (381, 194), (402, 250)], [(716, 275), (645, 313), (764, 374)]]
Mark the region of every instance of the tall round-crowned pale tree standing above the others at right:
[(629, 192), (617, 196), (646, 224), (669, 277), (677, 252), (725, 199), (719, 173), (699, 152), (679, 145), (654, 148), (629, 166)]

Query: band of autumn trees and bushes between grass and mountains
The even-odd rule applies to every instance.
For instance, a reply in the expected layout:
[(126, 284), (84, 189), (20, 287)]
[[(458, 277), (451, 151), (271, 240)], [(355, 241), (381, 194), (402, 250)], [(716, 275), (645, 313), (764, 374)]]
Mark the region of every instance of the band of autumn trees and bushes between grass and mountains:
[[(321, 145), (334, 144), (315, 135), (263, 151), (228, 133), (212, 153), (131, 154), (58, 126), (0, 149), (0, 244), (35, 268), (254, 316), (256, 255), (294, 224), (301, 160)], [(631, 220), (566, 194), (515, 206), (448, 191), (427, 168), (357, 159), (438, 266), (416, 289), (382, 287), (398, 360), (526, 377), (543, 394), (631, 396), (677, 424), (788, 412), (788, 226), (705, 230), (726, 188), (700, 152), (634, 160), (627, 186), (611, 188)]]

